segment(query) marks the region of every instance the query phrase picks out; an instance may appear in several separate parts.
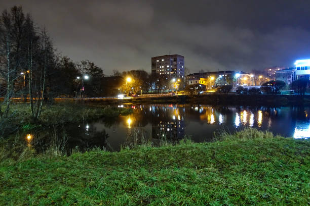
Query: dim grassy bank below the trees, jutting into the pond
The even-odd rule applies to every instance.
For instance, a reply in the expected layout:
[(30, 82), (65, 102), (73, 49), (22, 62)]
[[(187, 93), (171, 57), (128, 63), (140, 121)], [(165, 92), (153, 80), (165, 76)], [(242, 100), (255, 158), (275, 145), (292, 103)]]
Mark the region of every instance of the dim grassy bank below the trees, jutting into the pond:
[[(16, 103), (10, 107), (9, 117), (0, 123), (0, 129), (7, 134), (18, 130), (31, 130), (38, 126), (59, 125), (65, 123), (83, 122), (99, 118), (115, 118), (119, 115), (128, 115), (132, 109), (111, 106), (81, 104), (79, 102), (60, 102), (43, 106), (38, 121), (31, 120), (31, 110), (27, 103)], [(1, 133), (0, 133), (1, 137)]]

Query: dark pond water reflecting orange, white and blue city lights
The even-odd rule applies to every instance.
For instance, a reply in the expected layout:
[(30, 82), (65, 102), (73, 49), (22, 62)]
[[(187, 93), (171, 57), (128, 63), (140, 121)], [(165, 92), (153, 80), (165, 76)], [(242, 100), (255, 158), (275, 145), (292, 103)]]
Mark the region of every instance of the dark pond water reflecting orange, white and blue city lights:
[[(246, 127), (269, 130), (285, 137), (310, 137), (309, 107), (211, 107), (168, 104), (118, 107), (132, 108), (134, 113), (116, 119), (66, 125), (62, 130), (54, 128), (55, 132), (50, 131), (50, 134), (57, 133), (58, 140), (54, 141), (67, 150), (95, 146), (120, 150), (122, 145), (133, 142), (151, 140), (156, 143), (160, 138), (177, 141), (184, 136), (195, 142), (203, 142), (210, 141), (215, 133), (223, 130), (235, 132)], [(65, 141), (62, 141), (64, 134)], [(39, 139), (37, 146), (50, 144), (48, 140), (51, 138)]]

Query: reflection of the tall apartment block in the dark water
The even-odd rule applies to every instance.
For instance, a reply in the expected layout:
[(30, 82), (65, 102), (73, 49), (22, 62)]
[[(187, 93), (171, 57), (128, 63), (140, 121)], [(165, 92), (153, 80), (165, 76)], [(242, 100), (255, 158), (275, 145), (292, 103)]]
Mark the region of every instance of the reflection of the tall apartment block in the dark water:
[[(156, 108), (156, 109), (159, 109)], [(184, 137), (184, 112), (176, 106), (159, 109), (160, 115), (152, 118), (152, 137), (167, 139), (181, 139)], [(157, 114), (158, 114), (157, 112)]]

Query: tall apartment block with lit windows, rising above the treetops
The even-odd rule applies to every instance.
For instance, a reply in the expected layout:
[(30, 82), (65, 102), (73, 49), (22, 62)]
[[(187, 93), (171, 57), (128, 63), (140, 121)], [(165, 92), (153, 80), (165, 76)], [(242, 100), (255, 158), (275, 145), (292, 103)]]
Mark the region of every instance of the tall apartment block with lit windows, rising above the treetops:
[(181, 55), (164, 55), (151, 58), (152, 74), (170, 78), (184, 78), (184, 57)]

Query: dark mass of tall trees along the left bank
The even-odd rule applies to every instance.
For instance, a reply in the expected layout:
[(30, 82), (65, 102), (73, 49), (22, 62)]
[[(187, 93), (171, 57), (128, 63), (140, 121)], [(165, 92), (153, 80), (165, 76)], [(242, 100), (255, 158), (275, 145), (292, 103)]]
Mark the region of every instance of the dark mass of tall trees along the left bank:
[[(14, 98), (30, 101), (33, 120), (40, 116), (44, 101), (81, 92), (89, 75), (89, 95), (98, 93), (101, 68), (90, 61), (72, 62), (60, 56), (45, 28), (36, 26), (21, 7), (4, 10), (0, 20), (0, 118), (9, 115)], [(81, 77), (81, 78), (79, 78)], [(93, 92), (93, 93), (92, 93)]]

